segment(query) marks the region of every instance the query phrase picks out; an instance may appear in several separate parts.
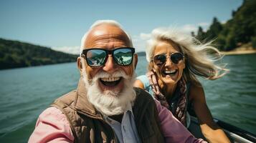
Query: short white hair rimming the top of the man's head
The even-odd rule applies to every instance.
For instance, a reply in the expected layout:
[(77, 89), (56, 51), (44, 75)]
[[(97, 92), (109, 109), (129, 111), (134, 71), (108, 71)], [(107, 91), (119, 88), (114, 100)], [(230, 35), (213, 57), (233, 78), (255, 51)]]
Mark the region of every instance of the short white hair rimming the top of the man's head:
[[(87, 34), (89, 34), (90, 31), (92, 31), (96, 26), (103, 25), (103, 24), (110, 24), (110, 25), (113, 25), (113, 26), (117, 26), (117, 27), (119, 27), (120, 29), (123, 30), (121, 24), (119, 24), (118, 21), (115, 21), (115, 20), (98, 20), (98, 21), (95, 21), (93, 23), (93, 25), (90, 26), (90, 29), (87, 32), (85, 32), (84, 36), (82, 36), (81, 46), (80, 46), (80, 54), (82, 53), (82, 49), (85, 48), (85, 47), (83, 47), (83, 44), (85, 43), (85, 40), (87, 38)], [(123, 31), (128, 36), (128, 39), (130, 41), (130, 45), (133, 46), (133, 42), (131, 40), (131, 36), (125, 30), (123, 30)]]

